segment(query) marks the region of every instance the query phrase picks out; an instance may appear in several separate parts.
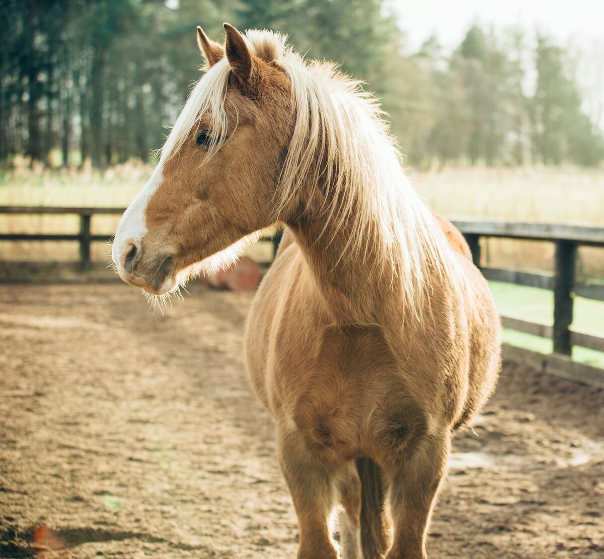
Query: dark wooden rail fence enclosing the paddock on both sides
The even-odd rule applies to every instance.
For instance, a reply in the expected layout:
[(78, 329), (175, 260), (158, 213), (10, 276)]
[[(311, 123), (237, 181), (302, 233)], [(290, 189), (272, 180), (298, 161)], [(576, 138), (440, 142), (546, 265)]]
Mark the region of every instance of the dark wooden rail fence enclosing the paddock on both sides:
[[(38, 235), (0, 233), (2, 241), (77, 241), (80, 245), (80, 269), (88, 270), (91, 264), (90, 244), (92, 241), (109, 241), (111, 236), (92, 235), (91, 219), (96, 214), (121, 214), (123, 208), (95, 207), (28, 207), (0, 206), (2, 213), (52, 213), (80, 216), (80, 231), (77, 235)], [(553, 324), (535, 323), (519, 318), (502, 316), (504, 327), (553, 339), (551, 355), (528, 352), (519, 348), (506, 347), (504, 355), (530, 361), (543, 370), (588, 382), (604, 388), (604, 370), (574, 362), (570, 359), (573, 346), (587, 347), (604, 352), (604, 338), (576, 332), (570, 328), (573, 321), (573, 295), (604, 301), (604, 285), (586, 285), (575, 280), (577, 248), (581, 245), (604, 247), (604, 228), (578, 227), (556, 224), (503, 223), (453, 219), (455, 226), (463, 233), (472, 251), (474, 263), (490, 280), (517, 283), (554, 292)], [(532, 241), (553, 242), (556, 247), (553, 274), (527, 273), (519, 270), (505, 270), (481, 266), (480, 238), (498, 237)], [(268, 239), (267, 239), (268, 240)], [(276, 241), (273, 239), (276, 246)]]

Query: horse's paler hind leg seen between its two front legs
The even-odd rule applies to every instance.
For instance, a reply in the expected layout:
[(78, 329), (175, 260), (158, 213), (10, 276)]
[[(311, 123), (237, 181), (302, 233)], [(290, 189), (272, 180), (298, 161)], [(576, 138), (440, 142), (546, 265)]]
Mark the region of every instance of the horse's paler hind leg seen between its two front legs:
[(338, 473), (340, 502), (344, 511), (339, 516), (342, 559), (363, 559), (361, 547), (361, 479), (354, 461)]

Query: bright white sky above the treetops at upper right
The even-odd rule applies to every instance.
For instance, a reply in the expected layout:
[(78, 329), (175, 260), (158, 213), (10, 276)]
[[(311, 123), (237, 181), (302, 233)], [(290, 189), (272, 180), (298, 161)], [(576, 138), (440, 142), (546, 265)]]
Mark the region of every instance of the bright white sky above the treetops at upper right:
[(604, 39), (603, 0), (387, 0), (399, 16), (408, 46), (417, 49), (434, 31), (440, 43), (457, 46), (474, 22), (496, 28), (521, 25), (542, 30), (562, 44), (572, 38)]

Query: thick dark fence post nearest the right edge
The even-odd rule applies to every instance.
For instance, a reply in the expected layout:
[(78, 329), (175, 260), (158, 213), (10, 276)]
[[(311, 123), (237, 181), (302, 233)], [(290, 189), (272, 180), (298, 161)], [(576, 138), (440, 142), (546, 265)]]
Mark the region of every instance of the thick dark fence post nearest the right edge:
[(573, 322), (574, 263), (577, 245), (574, 242), (556, 241), (554, 262), (554, 352), (571, 355), (573, 346), (570, 330)]

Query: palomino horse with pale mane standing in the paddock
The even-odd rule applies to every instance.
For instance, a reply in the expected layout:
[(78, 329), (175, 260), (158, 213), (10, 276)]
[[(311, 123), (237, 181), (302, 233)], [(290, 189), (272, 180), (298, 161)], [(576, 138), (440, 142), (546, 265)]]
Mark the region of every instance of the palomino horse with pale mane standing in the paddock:
[(206, 71), (120, 221), (118, 272), (169, 294), (283, 224), (246, 352), (298, 557), (425, 558), (452, 434), (500, 367), (489, 289), (460, 233), (411, 189), (358, 83), (278, 34), (225, 30), (222, 46), (198, 28)]

